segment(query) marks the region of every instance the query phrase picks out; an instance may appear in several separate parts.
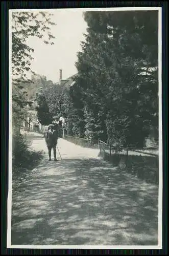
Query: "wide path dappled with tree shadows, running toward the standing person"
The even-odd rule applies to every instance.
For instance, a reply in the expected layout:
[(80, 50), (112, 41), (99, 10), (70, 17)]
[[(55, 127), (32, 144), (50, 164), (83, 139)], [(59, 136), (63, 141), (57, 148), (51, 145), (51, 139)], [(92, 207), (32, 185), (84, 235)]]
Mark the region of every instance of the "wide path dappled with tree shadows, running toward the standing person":
[(158, 187), (69, 143), (13, 189), (12, 245), (158, 245)]

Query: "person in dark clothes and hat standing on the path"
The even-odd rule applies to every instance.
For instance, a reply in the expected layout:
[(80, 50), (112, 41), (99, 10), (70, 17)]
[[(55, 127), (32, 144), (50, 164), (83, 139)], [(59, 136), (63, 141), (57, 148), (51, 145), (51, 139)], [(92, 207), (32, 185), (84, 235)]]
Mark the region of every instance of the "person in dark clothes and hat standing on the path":
[(56, 145), (58, 143), (58, 131), (54, 130), (54, 124), (50, 124), (48, 126), (46, 136), (45, 136), (45, 142), (46, 142), (48, 153), (49, 153), (49, 161), (51, 161), (52, 148), (54, 152), (54, 161), (58, 161), (56, 159)]

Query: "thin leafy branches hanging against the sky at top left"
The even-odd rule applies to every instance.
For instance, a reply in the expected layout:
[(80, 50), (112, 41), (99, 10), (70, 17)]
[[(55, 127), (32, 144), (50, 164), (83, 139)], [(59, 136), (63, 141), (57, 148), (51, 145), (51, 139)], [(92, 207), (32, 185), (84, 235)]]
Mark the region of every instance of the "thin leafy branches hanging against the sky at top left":
[[(18, 83), (19, 79), (26, 80), (26, 72), (31, 71), (31, 60), (34, 49), (27, 45), (30, 36), (42, 38), (45, 44), (55, 38), (49, 25), (51, 22), (49, 12), (12, 12), (12, 76), (13, 81)], [(14, 77), (16, 76), (17, 79)]]

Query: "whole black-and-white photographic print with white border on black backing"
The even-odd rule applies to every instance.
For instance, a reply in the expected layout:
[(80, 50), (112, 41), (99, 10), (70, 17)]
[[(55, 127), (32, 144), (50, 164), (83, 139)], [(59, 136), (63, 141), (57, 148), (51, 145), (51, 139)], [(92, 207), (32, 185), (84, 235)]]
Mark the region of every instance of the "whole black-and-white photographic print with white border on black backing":
[(8, 248), (162, 248), (161, 8), (9, 10)]

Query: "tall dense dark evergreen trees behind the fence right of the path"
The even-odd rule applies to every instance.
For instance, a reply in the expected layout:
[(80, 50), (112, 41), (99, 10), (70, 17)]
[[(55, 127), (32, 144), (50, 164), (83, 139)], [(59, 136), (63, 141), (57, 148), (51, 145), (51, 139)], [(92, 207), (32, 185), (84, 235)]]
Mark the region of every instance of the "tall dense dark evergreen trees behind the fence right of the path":
[(158, 66), (157, 14), (85, 13), (88, 34), (78, 54), (74, 92), (81, 90), (77, 104), (81, 100), (92, 116), (85, 132), (100, 132), (119, 145), (142, 146), (151, 125), (157, 125), (158, 70), (152, 69)]

